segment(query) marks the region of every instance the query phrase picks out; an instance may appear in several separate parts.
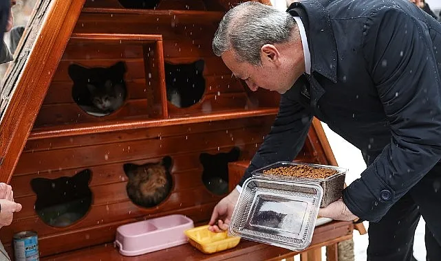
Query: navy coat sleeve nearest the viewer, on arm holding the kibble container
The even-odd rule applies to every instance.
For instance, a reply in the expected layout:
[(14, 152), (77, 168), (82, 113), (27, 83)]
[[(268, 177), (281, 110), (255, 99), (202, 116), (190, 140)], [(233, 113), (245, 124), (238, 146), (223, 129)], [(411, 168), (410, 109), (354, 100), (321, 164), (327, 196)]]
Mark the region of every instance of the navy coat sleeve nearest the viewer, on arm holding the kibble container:
[(367, 19), (363, 36), (391, 141), (343, 191), (343, 201), (356, 216), (378, 222), (441, 158), (441, 83), (425, 23), (380, 10)]

